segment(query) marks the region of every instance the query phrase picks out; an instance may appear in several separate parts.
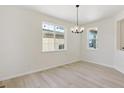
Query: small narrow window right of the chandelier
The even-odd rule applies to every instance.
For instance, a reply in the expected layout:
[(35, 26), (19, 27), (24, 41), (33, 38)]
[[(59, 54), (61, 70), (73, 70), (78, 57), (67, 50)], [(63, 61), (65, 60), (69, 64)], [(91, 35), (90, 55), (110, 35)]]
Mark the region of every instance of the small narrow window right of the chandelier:
[(97, 48), (97, 29), (90, 29), (88, 31), (88, 48)]

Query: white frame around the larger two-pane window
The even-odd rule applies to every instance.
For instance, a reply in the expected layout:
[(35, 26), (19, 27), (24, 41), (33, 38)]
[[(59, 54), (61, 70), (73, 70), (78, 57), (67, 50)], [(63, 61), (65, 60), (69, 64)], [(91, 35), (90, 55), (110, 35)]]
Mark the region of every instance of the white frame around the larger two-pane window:
[[(51, 24), (51, 25), (54, 25), (54, 26), (62, 26), (63, 28), (64, 28), (64, 49), (60, 49), (60, 50), (53, 50), (53, 51), (44, 51), (43, 50), (43, 28), (41, 28), (41, 52), (43, 52), (43, 53), (51, 53), (51, 52), (65, 52), (65, 51), (67, 51), (67, 31), (66, 31), (66, 28), (65, 28), (65, 26), (64, 25), (59, 25), (59, 24), (54, 24), (54, 23), (52, 23), (52, 22), (46, 22), (46, 21), (43, 21), (42, 23), (41, 23), (41, 25), (43, 25), (43, 23), (48, 23), (48, 24)], [(55, 48), (55, 32), (53, 32), (54, 33), (54, 48)]]

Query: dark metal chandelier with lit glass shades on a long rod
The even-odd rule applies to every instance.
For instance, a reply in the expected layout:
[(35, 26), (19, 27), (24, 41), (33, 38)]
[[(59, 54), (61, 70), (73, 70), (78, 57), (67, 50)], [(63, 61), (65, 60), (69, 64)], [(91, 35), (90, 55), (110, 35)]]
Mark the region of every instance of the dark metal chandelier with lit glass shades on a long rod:
[(78, 8), (79, 8), (79, 5), (76, 5), (76, 8), (77, 8), (77, 23), (73, 28), (71, 28), (71, 31), (72, 31), (72, 33), (82, 33), (84, 31), (84, 28), (79, 26), (79, 24), (78, 24)]

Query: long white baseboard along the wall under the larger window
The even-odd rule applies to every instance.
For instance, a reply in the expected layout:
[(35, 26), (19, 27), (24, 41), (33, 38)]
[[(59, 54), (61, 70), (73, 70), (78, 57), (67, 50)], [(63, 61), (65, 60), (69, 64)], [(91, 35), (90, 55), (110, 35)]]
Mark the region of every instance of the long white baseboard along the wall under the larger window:
[(56, 67), (59, 67), (59, 66), (63, 66), (63, 65), (66, 65), (66, 64), (71, 64), (71, 63), (75, 63), (75, 62), (79, 62), (79, 61), (80, 61), (80, 60), (75, 60), (75, 61), (70, 61), (70, 62), (67, 62), (67, 63), (64, 63), (64, 64), (53, 65), (53, 66), (49, 66), (49, 67), (44, 67), (44, 68), (40, 68), (40, 69), (35, 69), (35, 70), (33, 70), (33, 71), (28, 71), (28, 72), (24, 72), (24, 73), (19, 73), (19, 74), (12, 75), (12, 76), (9, 76), (9, 77), (0, 78), (0, 81), (5, 81), (5, 80), (9, 80), (9, 79), (21, 77), (21, 76), (24, 76), (24, 75), (28, 75), (28, 74), (32, 74), (32, 73), (36, 73), (36, 72), (40, 72), (40, 71), (44, 71), (44, 70), (56, 68)]

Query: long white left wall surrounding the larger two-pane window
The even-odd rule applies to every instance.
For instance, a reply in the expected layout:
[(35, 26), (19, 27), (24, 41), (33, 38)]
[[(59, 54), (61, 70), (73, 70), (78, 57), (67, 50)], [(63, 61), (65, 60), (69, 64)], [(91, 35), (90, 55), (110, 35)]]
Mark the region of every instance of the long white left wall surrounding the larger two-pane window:
[[(48, 21), (65, 26), (67, 51), (41, 52), (41, 25)], [(80, 35), (71, 23), (18, 6), (0, 6), (0, 80), (80, 60)]]

